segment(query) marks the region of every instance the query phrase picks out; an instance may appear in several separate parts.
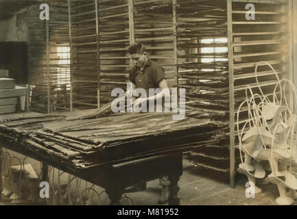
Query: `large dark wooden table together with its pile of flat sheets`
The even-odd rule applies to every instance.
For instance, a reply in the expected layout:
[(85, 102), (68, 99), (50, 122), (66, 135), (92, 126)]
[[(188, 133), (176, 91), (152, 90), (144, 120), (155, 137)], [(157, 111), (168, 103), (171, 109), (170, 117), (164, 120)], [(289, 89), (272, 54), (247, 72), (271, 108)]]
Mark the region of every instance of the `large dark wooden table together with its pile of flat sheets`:
[[(0, 116), (0, 146), (105, 188), (111, 205), (119, 204), (125, 188), (168, 176), (169, 205), (178, 205), (182, 153), (215, 144), (220, 125), (165, 113), (84, 119), (94, 112)], [(43, 180), (47, 169), (43, 165)]]

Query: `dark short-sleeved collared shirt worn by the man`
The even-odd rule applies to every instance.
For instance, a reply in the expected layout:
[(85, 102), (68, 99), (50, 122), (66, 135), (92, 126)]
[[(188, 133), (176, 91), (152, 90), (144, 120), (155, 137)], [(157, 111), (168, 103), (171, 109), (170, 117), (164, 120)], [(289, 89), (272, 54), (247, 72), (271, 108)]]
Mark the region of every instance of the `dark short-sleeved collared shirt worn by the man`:
[(149, 95), (150, 88), (159, 88), (159, 83), (165, 79), (162, 66), (157, 62), (148, 59), (143, 71), (141, 68), (133, 66), (130, 71), (129, 80), (134, 83), (136, 88), (143, 88)]

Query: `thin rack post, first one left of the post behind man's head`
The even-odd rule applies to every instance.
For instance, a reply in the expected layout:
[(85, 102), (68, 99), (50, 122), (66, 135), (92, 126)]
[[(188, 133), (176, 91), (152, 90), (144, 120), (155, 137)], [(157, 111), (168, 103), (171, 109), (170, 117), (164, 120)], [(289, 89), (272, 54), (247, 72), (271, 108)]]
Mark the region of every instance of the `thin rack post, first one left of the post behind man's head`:
[(101, 100), (101, 78), (100, 78), (100, 39), (99, 39), (99, 12), (98, 12), (98, 0), (95, 0), (95, 15), (96, 15), (96, 40), (97, 40), (97, 57), (96, 57), (96, 70), (97, 70), (97, 105), (100, 108)]

